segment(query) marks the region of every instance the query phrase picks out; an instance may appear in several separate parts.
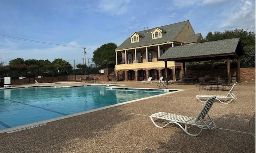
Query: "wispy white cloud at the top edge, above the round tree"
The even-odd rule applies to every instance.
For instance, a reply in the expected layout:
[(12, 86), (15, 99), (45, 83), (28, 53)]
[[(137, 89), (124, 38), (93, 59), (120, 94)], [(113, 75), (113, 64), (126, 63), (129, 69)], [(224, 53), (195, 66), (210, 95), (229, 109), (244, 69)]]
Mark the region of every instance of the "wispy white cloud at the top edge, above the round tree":
[(105, 13), (111, 15), (121, 15), (128, 12), (128, 4), (131, 0), (100, 0), (98, 8)]

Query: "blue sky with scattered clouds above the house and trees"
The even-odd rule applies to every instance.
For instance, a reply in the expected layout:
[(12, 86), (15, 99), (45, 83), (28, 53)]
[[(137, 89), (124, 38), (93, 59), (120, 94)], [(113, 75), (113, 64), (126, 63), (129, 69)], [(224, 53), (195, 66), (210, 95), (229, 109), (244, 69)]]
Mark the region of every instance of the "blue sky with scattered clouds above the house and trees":
[(144, 27), (186, 20), (203, 37), (236, 28), (255, 32), (255, 0), (1, 0), (0, 62), (62, 58), (73, 66), (83, 64), (85, 47), (88, 64), (103, 44), (119, 46)]

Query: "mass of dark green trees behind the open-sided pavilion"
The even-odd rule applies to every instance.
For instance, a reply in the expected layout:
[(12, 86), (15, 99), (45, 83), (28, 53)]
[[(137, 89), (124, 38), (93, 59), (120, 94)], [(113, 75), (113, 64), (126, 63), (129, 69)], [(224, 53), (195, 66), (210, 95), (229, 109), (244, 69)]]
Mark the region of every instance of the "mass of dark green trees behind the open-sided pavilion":
[[(217, 40), (240, 38), (242, 46), (244, 48), (245, 57), (240, 59), (241, 68), (255, 68), (255, 32), (247, 32), (247, 30), (225, 30), (224, 32), (216, 31), (214, 34), (209, 32), (207, 36), (201, 42), (212, 42)], [(207, 64), (206, 64), (207, 63)], [(195, 70), (195, 65), (199, 69), (220, 69), (226, 68), (225, 60), (214, 60), (214, 61), (202, 61), (202, 62), (188, 62), (186, 63), (186, 68), (189, 70)], [(230, 67), (237, 68), (237, 60), (230, 60)]]

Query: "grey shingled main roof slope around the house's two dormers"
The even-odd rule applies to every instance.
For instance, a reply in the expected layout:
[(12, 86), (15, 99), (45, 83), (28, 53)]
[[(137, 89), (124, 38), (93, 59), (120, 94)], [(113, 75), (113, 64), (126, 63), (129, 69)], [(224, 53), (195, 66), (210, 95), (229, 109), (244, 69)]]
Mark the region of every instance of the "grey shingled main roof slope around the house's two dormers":
[(174, 41), (174, 39), (178, 36), (178, 34), (182, 31), (182, 29), (184, 28), (184, 26), (186, 26), (186, 24), (188, 22), (189, 21), (187, 20), (187, 21), (178, 22), (175, 24), (158, 27), (159, 29), (166, 32), (166, 34), (164, 34), (164, 36), (162, 36), (162, 38), (160, 38), (160, 39), (152, 39), (151, 38), (150, 32), (155, 28), (152, 28), (149, 30), (143, 30), (140, 32), (134, 32), (140, 36), (144, 36), (144, 38), (142, 40), (140, 40), (139, 42), (131, 43), (131, 40), (130, 40), (131, 38), (129, 37), (120, 46), (118, 46), (115, 50), (125, 50), (128, 48), (136, 48), (136, 47), (160, 44), (160, 43), (164, 43), (164, 42), (172, 42), (172, 41)]

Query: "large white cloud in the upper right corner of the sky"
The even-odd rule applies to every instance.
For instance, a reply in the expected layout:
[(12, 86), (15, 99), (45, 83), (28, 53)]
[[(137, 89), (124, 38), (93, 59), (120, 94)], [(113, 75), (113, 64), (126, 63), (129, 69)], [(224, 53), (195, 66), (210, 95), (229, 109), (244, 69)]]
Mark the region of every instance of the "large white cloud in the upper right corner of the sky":
[(233, 8), (222, 12), (222, 15), (226, 16), (227, 19), (220, 23), (220, 28), (226, 30), (238, 28), (255, 32), (255, 3), (242, 0)]

